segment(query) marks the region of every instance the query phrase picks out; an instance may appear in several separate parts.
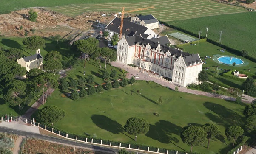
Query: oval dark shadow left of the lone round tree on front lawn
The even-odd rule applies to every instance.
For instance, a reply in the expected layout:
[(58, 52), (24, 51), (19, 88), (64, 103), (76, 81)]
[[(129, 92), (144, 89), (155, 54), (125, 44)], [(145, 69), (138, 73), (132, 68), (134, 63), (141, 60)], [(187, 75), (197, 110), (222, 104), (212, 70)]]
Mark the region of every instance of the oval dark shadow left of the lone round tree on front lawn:
[(123, 132), (123, 127), (117, 121), (114, 121), (105, 115), (92, 115), (91, 120), (101, 129), (105, 129), (113, 134), (119, 134)]

